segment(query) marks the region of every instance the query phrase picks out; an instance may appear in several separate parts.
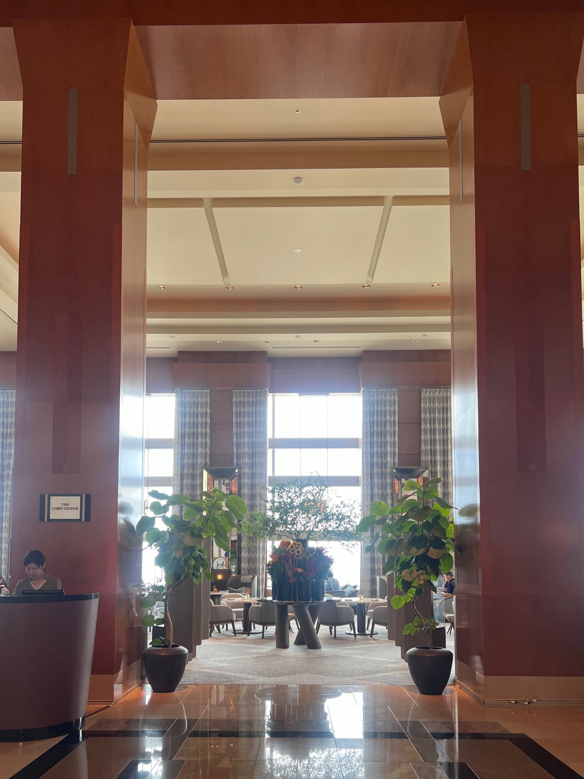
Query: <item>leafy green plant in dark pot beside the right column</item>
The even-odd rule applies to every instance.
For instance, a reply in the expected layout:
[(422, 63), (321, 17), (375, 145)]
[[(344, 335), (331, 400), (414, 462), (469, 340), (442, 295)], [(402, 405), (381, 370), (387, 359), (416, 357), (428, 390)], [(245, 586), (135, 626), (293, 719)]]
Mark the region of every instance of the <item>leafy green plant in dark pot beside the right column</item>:
[(450, 677), (452, 652), (434, 647), (432, 630), (438, 627), (433, 615), (424, 615), (418, 608), (418, 598), (424, 587), (436, 592), (434, 582), (449, 573), (454, 565), (453, 506), (438, 496), (442, 479), (429, 479), (423, 485), (408, 479), (404, 495), (395, 506), (383, 501), (371, 503), (371, 515), (365, 516), (357, 530), (368, 532), (378, 527), (371, 544), (377, 544), (385, 556), (385, 573), (393, 573), (396, 587), (402, 594), (391, 599), (392, 608), (410, 608), (413, 617), (403, 628), (404, 635), (424, 633), (427, 647), (413, 647), (406, 659), (414, 684), (423, 695), (442, 695)]

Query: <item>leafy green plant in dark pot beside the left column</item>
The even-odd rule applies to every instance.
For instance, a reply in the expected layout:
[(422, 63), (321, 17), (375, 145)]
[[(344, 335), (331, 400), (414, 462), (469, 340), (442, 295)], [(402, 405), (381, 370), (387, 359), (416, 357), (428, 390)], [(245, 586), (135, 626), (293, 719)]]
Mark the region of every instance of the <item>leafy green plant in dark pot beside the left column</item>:
[[(135, 533), (144, 536), (146, 544), (156, 550), (154, 564), (164, 573), (164, 585), (150, 587), (141, 605), (151, 608), (162, 601), (164, 617), (147, 614), (142, 617), (142, 625), (164, 626), (165, 637), (153, 639), (151, 646), (144, 650), (144, 668), (155, 693), (172, 693), (185, 672), (188, 650), (173, 643), (168, 597), (185, 580), (190, 580), (195, 587), (202, 576), (213, 579), (203, 541), (213, 538), (218, 547), (227, 551), (230, 530), (237, 527), (248, 509), (239, 495), (225, 495), (219, 489), (203, 492), (201, 500), (156, 490), (148, 494), (155, 499), (150, 503), (152, 514), (140, 518)], [(183, 509), (182, 516), (170, 513), (173, 507), (179, 506)]]

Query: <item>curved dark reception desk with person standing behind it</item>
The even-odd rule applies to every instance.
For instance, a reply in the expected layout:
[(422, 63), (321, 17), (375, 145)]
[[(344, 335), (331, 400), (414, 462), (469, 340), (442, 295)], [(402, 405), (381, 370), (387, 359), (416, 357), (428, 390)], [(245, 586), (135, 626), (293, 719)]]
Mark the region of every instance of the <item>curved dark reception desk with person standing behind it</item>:
[(0, 742), (81, 728), (99, 594), (0, 597)]

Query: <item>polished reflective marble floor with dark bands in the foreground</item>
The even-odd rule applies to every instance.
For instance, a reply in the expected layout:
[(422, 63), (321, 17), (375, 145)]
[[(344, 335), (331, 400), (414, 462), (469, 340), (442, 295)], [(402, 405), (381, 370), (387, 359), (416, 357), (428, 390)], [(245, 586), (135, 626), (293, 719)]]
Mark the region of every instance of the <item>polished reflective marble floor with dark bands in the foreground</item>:
[(0, 744), (0, 779), (582, 776), (584, 709), (486, 709), (454, 687), (143, 686), (80, 736)]

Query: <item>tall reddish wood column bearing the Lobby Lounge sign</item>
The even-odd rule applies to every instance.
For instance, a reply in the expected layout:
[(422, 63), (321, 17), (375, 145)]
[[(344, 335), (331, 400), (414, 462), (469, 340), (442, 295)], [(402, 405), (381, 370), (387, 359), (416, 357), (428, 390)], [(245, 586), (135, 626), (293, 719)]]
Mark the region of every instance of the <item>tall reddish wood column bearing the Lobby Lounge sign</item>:
[[(130, 19), (14, 23), (23, 164), (12, 581), (38, 548), (97, 591), (90, 700), (139, 682), (146, 154), (156, 101)], [(91, 495), (41, 523), (41, 493)]]

